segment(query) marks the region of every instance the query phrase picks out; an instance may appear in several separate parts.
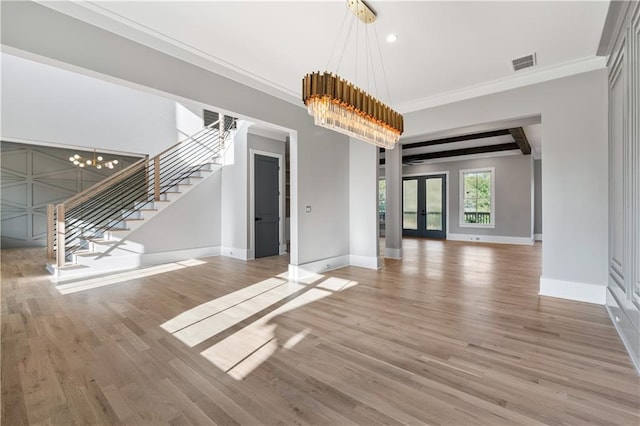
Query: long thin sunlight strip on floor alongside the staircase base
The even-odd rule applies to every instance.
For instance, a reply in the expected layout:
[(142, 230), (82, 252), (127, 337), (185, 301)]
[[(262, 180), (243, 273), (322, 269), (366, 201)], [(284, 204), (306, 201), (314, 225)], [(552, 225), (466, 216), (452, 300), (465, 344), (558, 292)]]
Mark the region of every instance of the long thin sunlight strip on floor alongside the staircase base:
[(60, 294), (72, 294), (80, 291), (91, 290), (94, 288), (105, 287), (113, 284), (120, 284), (125, 281), (131, 281), (138, 278), (151, 277), (153, 275), (164, 274), (165, 272), (177, 271), (179, 269), (198, 266), (206, 263), (203, 260), (190, 259), (181, 262), (166, 263), (149, 268), (136, 269), (133, 271), (120, 272), (104, 277), (88, 278), (85, 280), (74, 281), (69, 284), (60, 284), (56, 289)]

